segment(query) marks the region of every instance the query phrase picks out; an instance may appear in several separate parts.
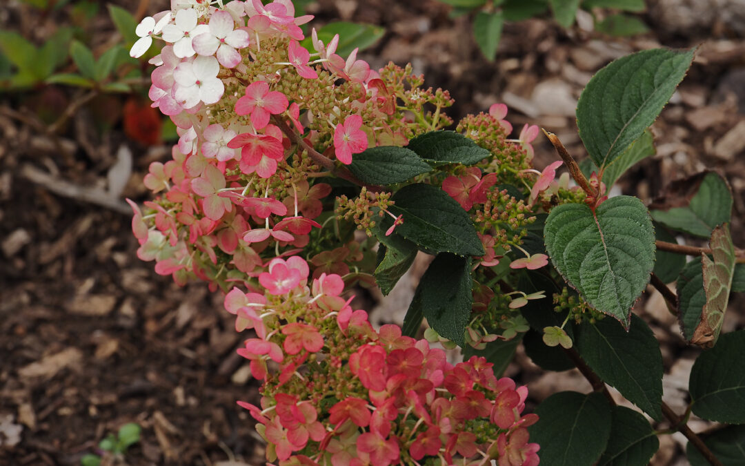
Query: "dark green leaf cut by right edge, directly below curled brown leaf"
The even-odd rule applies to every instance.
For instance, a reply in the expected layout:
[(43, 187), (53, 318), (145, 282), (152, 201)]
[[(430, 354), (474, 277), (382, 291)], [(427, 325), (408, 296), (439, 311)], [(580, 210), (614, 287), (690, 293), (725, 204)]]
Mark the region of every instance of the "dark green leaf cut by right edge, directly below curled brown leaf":
[(725, 333), (717, 345), (701, 353), (688, 388), (693, 412), (708, 421), (745, 424), (745, 330)]

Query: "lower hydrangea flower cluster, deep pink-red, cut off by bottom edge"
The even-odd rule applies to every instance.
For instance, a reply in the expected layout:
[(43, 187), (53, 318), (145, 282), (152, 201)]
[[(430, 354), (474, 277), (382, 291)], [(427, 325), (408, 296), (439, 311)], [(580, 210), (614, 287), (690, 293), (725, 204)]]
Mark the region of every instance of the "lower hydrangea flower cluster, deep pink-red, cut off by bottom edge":
[(343, 280), (308, 286), (298, 256), (273, 259), (264, 294), (232, 289), (226, 309), (256, 338), (238, 350), (263, 380), (261, 406), (239, 402), (259, 422), (267, 459), (280, 465), (537, 465), (527, 442), (536, 415), (522, 415), (525, 387), (497, 379), (472, 356), (448, 364), (400, 327), (373, 330), (367, 312), (340, 297)]

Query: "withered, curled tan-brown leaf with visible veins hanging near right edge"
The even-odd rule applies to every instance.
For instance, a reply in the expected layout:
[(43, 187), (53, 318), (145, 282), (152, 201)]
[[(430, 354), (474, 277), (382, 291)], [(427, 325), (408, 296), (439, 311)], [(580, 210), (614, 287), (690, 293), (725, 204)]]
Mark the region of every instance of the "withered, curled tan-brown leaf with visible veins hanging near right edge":
[(694, 330), (691, 343), (704, 347), (717, 344), (722, 330), (724, 312), (729, 303), (729, 291), (732, 288), (732, 276), (735, 274), (735, 245), (729, 233), (729, 224), (721, 224), (711, 233), (709, 247), (714, 260), (701, 256), (703, 289), (706, 303), (701, 311), (701, 321)]

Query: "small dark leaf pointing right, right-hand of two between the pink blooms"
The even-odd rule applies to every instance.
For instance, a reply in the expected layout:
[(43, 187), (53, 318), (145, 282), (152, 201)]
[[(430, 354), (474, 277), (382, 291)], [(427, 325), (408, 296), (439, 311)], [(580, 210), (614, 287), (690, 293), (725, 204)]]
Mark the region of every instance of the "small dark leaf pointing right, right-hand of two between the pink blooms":
[(473, 165), (491, 154), (463, 134), (454, 131), (424, 133), (411, 139), (407, 148), (433, 166), (447, 163)]

